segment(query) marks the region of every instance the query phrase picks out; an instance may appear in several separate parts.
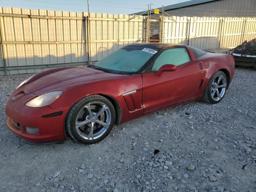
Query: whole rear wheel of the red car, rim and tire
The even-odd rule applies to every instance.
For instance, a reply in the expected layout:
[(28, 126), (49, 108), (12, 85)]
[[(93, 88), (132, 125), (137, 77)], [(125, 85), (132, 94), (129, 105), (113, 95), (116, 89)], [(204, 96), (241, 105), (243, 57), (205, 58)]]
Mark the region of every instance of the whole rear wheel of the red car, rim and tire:
[(213, 74), (207, 84), (203, 100), (208, 103), (216, 104), (223, 99), (227, 88), (228, 80), (226, 74), (222, 71), (217, 71)]

